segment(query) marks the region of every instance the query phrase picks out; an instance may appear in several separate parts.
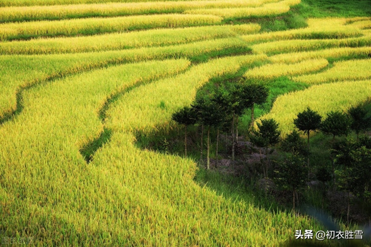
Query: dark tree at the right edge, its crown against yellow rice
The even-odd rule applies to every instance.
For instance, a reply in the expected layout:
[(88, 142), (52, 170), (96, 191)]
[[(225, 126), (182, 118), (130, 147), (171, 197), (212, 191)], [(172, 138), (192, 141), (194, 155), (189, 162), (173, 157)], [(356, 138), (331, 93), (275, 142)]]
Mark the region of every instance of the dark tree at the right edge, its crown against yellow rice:
[(358, 140), (359, 132), (367, 131), (371, 128), (371, 117), (367, 117), (367, 110), (362, 104), (349, 108), (348, 114), (352, 118), (350, 127), (357, 134)]

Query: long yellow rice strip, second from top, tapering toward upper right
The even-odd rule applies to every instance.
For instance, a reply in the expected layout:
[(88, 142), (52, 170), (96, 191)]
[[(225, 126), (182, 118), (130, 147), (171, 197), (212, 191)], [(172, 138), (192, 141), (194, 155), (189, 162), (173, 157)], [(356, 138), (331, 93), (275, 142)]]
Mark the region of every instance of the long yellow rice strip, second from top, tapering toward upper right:
[(155, 1), (146, 3), (74, 4), (56, 6), (4, 7), (0, 22), (60, 20), (79, 17), (128, 16), (154, 13), (181, 13), (190, 9), (257, 7), (278, 0), (197, 0)]

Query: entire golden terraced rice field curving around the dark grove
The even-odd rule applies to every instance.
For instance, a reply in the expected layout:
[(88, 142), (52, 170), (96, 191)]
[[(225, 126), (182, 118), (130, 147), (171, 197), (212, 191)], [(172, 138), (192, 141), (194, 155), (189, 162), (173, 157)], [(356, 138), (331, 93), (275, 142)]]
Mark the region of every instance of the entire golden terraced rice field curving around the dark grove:
[[(171, 129), (210, 79), (288, 77), (282, 135), (298, 112), (371, 97), (370, 18), (260, 31), (299, 0), (0, 0), (0, 237), (35, 246), (280, 246), (308, 216), (196, 183), (196, 163), (139, 149)], [(244, 20), (243, 23), (240, 19)], [(237, 20), (237, 21), (236, 21)], [(115, 100), (112, 100), (115, 99)], [(86, 162), (81, 150), (110, 139)]]

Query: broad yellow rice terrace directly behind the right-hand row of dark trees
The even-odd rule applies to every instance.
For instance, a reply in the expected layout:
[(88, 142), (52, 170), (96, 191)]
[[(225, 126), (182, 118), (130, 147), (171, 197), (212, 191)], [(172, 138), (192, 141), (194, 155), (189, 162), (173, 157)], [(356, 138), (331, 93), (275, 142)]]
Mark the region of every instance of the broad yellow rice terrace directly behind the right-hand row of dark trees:
[(303, 91), (290, 92), (279, 96), (271, 111), (262, 119), (273, 118), (279, 123), (283, 136), (294, 128), (293, 120), (308, 106), (322, 117), (336, 110), (347, 110), (371, 97), (371, 81), (345, 81), (313, 85)]

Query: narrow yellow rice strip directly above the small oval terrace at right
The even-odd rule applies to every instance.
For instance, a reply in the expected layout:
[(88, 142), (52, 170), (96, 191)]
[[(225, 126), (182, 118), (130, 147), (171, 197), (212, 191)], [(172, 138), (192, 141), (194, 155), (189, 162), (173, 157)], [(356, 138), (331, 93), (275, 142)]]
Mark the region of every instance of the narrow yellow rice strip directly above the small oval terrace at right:
[(342, 47), (317, 51), (277, 54), (269, 57), (269, 60), (274, 63), (294, 63), (314, 58), (357, 57), (368, 56), (369, 54), (371, 54), (371, 47)]

